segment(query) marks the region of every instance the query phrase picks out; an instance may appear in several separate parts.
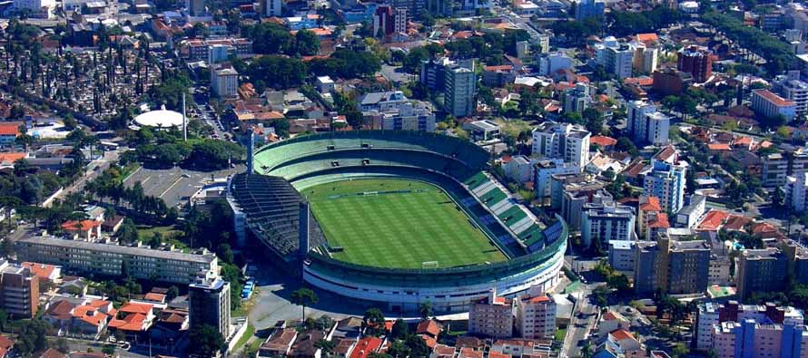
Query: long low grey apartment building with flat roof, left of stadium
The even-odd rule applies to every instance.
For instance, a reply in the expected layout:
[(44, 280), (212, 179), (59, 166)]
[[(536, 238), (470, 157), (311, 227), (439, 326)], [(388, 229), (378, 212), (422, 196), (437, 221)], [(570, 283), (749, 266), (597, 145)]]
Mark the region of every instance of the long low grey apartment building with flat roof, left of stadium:
[(187, 285), (197, 277), (216, 276), (218, 260), (211, 253), (185, 254), (144, 247), (123, 247), (52, 237), (24, 237), (15, 242), (17, 258), (62, 266), (88, 276), (133, 276), (137, 279)]

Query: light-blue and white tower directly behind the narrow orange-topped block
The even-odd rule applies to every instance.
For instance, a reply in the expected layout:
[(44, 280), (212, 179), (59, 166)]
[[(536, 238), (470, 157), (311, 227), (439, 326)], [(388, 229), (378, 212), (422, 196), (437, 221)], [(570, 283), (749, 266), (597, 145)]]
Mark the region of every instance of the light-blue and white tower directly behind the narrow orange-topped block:
[(643, 179), (643, 195), (659, 198), (662, 209), (675, 214), (685, 205), (685, 168), (652, 159), (651, 172)]

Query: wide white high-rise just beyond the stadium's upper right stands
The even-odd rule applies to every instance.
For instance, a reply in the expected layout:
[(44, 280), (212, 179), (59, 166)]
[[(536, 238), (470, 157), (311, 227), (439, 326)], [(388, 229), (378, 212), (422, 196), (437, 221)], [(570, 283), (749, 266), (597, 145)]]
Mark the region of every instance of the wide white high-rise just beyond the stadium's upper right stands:
[(580, 125), (546, 121), (533, 130), (533, 154), (583, 168), (589, 163), (590, 137)]

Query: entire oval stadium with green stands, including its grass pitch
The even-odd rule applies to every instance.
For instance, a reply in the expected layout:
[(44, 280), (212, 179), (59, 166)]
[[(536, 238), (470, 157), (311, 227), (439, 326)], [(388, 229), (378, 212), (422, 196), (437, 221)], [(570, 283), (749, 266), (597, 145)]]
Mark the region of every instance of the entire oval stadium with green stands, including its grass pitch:
[(492, 289), (557, 284), (567, 225), (543, 222), (467, 140), (340, 131), (251, 150), (232, 178), (237, 232), (324, 290), (412, 310), (466, 311)]

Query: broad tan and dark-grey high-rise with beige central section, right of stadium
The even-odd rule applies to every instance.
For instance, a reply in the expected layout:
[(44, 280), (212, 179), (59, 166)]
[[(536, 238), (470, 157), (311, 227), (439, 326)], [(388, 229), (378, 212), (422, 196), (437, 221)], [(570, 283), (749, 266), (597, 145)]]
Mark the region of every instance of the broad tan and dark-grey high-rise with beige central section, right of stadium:
[(634, 287), (637, 293), (657, 290), (671, 295), (703, 293), (710, 270), (710, 247), (704, 240), (676, 241), (667, 234), (656, 242), (636, 244)]

